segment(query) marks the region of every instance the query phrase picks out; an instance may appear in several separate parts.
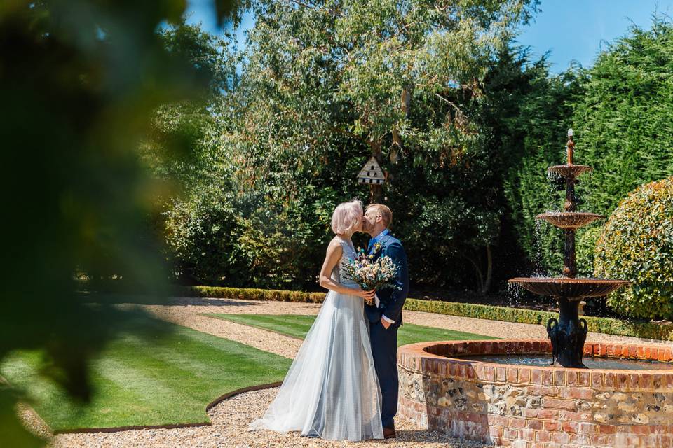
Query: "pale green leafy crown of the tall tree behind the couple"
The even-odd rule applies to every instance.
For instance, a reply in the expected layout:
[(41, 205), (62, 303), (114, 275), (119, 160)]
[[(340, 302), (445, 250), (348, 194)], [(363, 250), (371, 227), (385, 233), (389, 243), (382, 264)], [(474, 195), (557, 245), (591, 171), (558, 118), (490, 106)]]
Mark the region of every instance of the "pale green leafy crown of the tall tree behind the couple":
[[(339, 134), (366, 144), (379, 160), (405, 155), (419, 162), (419, 146), (463, 146), (470, 132), (454, 97), (479, 96), (489, 62), (535, 6), (534, 0), (258, 1), (247, 76), (266, 91), (252, 101), (284, 112), (286, 123), (301, 127), (294, 134), (303, 142)], [(427, 106), (444, 110), (442, 123), (428, 127), (410, 118), (412, 108)]]

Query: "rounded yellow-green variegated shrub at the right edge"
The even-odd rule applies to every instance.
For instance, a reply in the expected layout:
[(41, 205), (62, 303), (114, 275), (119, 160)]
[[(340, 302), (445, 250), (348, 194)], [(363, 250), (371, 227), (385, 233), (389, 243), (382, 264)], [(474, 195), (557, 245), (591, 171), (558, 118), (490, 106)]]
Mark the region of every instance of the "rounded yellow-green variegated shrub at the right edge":
[(610, 216), (596, 246), (595, 274), (633, 282), (608, 306), (634, 317), (673, 316), (673, 177), (641, 186)]

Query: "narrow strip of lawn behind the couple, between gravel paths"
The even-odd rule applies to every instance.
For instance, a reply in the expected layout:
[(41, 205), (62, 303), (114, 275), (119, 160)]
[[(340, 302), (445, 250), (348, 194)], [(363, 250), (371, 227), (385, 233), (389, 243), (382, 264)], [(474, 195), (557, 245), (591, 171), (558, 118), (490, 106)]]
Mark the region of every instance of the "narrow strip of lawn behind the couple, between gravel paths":
[[(278, 332), (282, 335), (304, 339), (313, 325), (315, 316), (297, 316), (294, 314), (205, 314), (213, 318), (224, 319), (244, 325)], [(397, 331), (397, 345), (413, 344), (414, 342), (443, 341), (451, 339), (496, 339), (494, 337), (475, 335), (443, 328), (426, 327), (405, 323)]]

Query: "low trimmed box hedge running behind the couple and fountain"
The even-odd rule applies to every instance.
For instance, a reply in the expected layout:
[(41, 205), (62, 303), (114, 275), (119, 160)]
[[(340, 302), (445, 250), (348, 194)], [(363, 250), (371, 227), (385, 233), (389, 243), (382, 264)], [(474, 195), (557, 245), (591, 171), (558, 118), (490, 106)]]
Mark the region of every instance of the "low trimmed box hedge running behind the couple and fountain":
[[(182, 289), (190, 297), (238, 298), (243, 300), (312, 302), (325, 300), (325, 293), (304, 293), (303, 291), (267, 290), (250, 288), (219, 288), (215, 286), (191, 286)], [(549, 318), (558, 317), (549, 311), (494, 307), (491, 305), (440, 302), (438, 300), (419, 300), (408, 298), (405, 309), (428, 313), (463, 316), (491, 321), (532, 323), (544, 325)], [(644, 337), (673, 341), (673, 325), (660, 325), (648, 321), (622, 321), (616, 318), (585, 316), (589, 331), (606, 335)]]

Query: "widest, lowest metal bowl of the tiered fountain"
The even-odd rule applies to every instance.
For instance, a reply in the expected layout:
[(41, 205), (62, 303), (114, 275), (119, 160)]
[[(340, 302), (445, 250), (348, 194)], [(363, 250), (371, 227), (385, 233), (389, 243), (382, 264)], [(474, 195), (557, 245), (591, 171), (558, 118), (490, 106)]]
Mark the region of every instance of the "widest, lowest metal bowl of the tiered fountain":
[(516, 283), (537, 295), (568, 297), (581, 300), (582, 297), (601, 297), (613, 290), (626, 286), (630, 281), (611, 279), (569, 279), (567, 277), (517, 277), (509, 283)]

